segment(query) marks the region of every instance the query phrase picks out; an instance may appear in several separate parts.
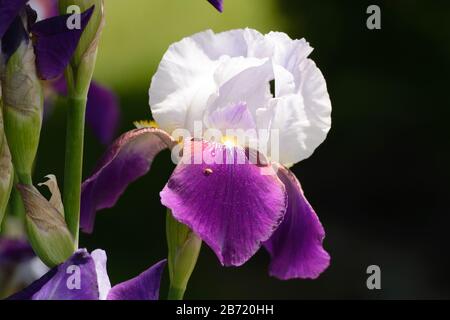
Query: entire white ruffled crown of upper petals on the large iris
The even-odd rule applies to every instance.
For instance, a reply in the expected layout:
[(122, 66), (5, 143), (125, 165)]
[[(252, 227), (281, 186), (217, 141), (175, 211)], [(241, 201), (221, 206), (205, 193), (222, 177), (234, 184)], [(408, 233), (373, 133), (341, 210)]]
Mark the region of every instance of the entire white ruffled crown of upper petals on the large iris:
[[(208, 30), (185, 38), (169, 48), (153, 78), (153, 116), (169, 133), (177, 128), (192, 133), (195, 121), (210, 127), (216, 110), (245, 104), (256, 129), (279, 130), (279, 161), (297, 163), (314, 152), (331, 127), (325, 79), (308, 59), (312, 50), (304, 39), (280, 32), (263, 36), (252, 29)], [(267, 137), (260, 137), (260, 145), (271, 143)]]

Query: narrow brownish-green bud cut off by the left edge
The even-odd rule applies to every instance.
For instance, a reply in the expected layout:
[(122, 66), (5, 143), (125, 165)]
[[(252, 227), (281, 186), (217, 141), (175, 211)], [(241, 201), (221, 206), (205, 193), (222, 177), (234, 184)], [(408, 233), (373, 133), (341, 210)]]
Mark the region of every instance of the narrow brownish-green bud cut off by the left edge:
[(3, 131), (2, 100), (0, 88), (0, 231), (6, 206), (14, 181), (14, 168), (8, 143)]

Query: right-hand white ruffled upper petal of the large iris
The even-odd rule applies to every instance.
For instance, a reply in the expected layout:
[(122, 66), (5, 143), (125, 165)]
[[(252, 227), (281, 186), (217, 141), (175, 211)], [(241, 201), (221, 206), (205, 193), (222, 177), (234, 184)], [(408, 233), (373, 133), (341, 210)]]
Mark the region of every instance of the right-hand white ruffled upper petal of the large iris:
[[(271, 32), (265, 36), (273, 52), (275, 101), (260, 117), (279, 130), (279, 162), (294, 164), (310, 157), (331, 128), (331, 101), (325, 79), (304, 40)], [(270, 119), (270, 120), (267, 120)]]

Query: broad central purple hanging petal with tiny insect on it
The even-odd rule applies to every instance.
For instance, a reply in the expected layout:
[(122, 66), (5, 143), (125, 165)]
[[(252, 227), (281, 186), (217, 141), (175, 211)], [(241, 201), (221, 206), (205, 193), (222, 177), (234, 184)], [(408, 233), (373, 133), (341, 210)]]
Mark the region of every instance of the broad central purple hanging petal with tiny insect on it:
[(283, 184), (275, 175), (263, 175), (260, 166), (239, 162), (246, 157), (239, 147), (186, 141), (183, 152), (161, 192), (162, 204), (222, 264), (242, 265), (281, 222), (287, 205)]

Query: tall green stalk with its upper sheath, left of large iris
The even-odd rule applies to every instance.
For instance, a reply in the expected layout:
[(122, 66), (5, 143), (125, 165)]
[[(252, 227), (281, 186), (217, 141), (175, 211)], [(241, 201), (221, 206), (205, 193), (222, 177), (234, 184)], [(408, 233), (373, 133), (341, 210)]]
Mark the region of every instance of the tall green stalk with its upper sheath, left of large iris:
[(66, 69), (68, 101), (63, 203), (70, 233), (78, 248), (86, 104), (104, 25), (103, 1), (59, 1), (62, 14), (72, 5), (93, 10), (70, 65)]

